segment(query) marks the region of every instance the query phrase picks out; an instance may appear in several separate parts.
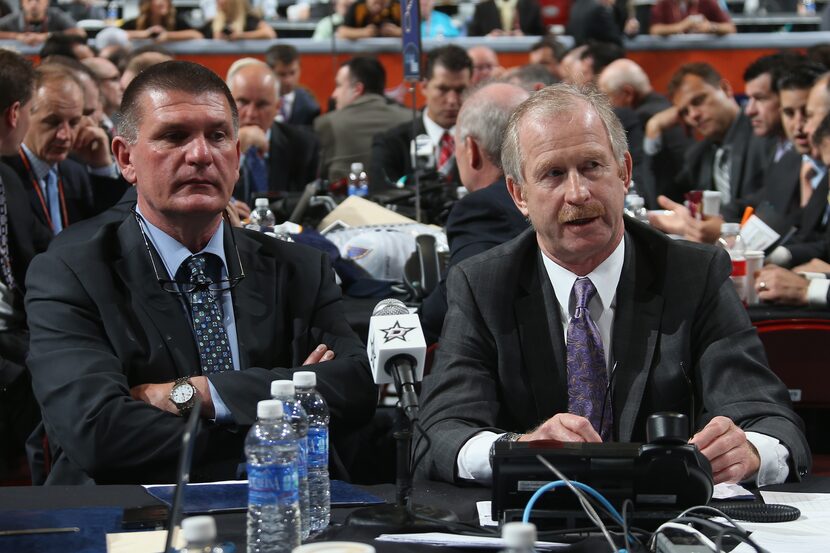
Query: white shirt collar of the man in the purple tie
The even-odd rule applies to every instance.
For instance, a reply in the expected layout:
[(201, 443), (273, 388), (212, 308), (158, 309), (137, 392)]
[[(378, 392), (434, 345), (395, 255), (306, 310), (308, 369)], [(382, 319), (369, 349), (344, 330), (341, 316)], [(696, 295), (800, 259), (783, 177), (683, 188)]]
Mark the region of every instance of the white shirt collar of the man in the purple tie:
[[(572, 273), (544, 253), (542, 253), (542, 261), (551, 285), (553, 285), (553, 291), (556, 293), (556, 300), (559, 302), (561, 312), (570, 316), (574, 311), (571, 302), (571, 290), (576, 279), (583, 275)], [(596, 297), (599, 298), (603, 311), (609, 307), (614, 307), (616, 304), (617, 286), (620, 283), (620, 275), (622, 275), (623, 261), (625, 261), (625, 238), (620, 240), (620, 243), (605, 261), (600, 263), (596, 269), (584, 275), (594, 283), (594, 287), (597, 289)]]

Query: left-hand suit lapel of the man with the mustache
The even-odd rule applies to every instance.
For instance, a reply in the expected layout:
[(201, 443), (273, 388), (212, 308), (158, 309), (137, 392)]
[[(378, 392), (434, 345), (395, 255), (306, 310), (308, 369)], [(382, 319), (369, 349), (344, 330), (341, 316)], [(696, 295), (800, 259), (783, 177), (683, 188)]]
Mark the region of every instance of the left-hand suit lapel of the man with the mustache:
[(546, 420), (568, 410), (565, 341), (558, 303), (542, 265), (542, 254), (532, 247), (536, 244), (536, 233), (529, 231), (524, 243), (526, 268), (520, 271), (523, 293), (514, 304), (514, 313), (537, 420)]

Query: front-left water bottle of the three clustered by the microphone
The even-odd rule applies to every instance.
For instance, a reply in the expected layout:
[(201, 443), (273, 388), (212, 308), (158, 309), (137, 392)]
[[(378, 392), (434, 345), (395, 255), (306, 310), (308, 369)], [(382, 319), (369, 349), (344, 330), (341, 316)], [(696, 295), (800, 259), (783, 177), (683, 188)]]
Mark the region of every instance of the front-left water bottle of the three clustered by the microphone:
[(300, 545), (297, 436), (282, 402), (257, 404), (245, 438), (248, 460), (248, 553), (289, 552)]

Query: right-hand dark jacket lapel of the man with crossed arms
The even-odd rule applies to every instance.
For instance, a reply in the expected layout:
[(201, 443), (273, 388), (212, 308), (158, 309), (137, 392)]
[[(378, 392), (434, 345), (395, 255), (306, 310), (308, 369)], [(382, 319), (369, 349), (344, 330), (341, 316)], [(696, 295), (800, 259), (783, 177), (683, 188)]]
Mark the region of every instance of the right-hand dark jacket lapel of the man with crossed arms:
[[(231, 292), (239, 345), (239, 367), (244, 369), (259, 363), (257, 359), (251, 358), (252, 353), (271, 350), (275, 346), (274, 337), (285, 335), (282, 320), (276, 316), (278, 310), (266, 307), (278, 305), (274, 275), (279, 279), (281, 274), (275, 259), (260, 252), (259, 242), (240, 231), (234, 231), (234, 236), (245, 271), (245, 278)], [(238, 275), (239, 263), (227, 225), (224, 239), (229, 274)], [(269, 332), (264, 333), (263, 329), (269, 329)]]

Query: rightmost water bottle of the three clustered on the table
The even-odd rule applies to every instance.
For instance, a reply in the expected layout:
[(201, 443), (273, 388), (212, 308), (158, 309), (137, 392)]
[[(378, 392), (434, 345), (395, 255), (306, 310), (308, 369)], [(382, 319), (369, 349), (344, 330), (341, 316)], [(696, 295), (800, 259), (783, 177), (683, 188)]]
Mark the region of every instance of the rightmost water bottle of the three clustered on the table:
[(308, 415), (308, 501), (312, 532), (318, 532), (328, 526), (331, 516), (329, 407), (314, 388), (316, 385), (316, 373), (294, 373), (297, 401)]

